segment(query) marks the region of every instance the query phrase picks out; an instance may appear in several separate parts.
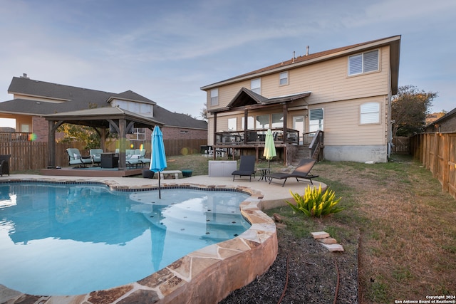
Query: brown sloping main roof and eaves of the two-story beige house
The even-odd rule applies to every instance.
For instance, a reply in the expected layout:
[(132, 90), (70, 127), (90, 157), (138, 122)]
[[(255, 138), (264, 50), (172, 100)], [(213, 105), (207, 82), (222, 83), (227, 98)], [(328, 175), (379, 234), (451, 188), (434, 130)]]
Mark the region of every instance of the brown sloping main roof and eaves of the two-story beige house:
[(266, 68), (260, 68), (249, 73), (238, 75), (233, 78), (219, 81), (218, 83), (212, 83), (201, 88), (201, 90), (209, 90), (217, 88), (222, 85), (228, 85), (230, 83), (237, 83), (241, 80), (247, 80), (257, 78), (262, 75), (268, 75), (271, 73), (278, 73), (281, 70), (289, 70), (291, 68), (299, 68), (304, 65), (310, 65), (321, 61), (327, 61), (333, 58), (341, 56), (348, 56), (353, 53), (360, 53), (368, 49), (379, 48), (381, 46), (390, 46), (390, 67), (391, 67), (391, 88), (393, 95), (398, 90), (399, 80), (399, 54), (400, 54), (400, 35), (391, 36), (388, 38), (381, 38), (373, 41), (367, 41), (363, 43), (353, 44), (351, 46), (343, 46), (341, 48), (333, 48), (328, 51), (322, 51), (318, 53), (310, 53), (308, 55), (299, 56), (297, 58), (291, 58), (289, 61), (283, 61), (274, 65), (269, 65)]

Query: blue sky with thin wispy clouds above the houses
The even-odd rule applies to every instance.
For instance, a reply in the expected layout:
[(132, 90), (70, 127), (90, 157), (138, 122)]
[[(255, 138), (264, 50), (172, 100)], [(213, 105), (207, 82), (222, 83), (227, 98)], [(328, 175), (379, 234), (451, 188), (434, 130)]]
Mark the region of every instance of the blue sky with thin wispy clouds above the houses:
[[(13, 77), (135, 93), (201, 119), (204, 85), (293, 53), (401, 35), (399, 85), (456, 108), (454, 0), (0, 0), (0, 102)], [(12, 126), (0, 119), (0, 127)]]

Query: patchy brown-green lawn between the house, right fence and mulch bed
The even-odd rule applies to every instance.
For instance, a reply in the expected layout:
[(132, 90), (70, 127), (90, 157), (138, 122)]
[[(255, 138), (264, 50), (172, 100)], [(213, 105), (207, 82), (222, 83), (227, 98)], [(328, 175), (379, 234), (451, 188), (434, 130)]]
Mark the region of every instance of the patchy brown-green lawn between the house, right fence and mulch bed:
[[(168, 169), (207, 175), (207, 160), (169, 157)], [(271, 169), (287, 168), (271, 162)], [(297, 238), (324, 229), (348, 240), (343, 246), (356, 239), (360, 303), (456, 294), (456, 201), (420, 163), (400, 155), (378, 164), (323, 161), (313, 172), (342, 196), (339, 204), (346, 210), (325, 219), (306, 219), (288, 206), (267, 213), (286, 216), (287, 229)]]

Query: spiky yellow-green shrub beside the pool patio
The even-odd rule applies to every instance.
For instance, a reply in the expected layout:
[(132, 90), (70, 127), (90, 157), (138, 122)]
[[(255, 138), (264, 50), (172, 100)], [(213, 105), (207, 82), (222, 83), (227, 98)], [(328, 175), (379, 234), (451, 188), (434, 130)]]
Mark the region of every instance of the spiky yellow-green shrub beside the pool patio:
[(290, 193), (296, 201), (296, 205), (289, 201), (286, 201), (286, 204), (289, 204), (294, 211), (302, 212), (306, 214), (306, 216), (321, 217), (343, 210), (343, 208), (336, 207), (341, 200), (341, 197), (334, 199), (336, 194), (329, 188), (322, 193), (321, 185), (318, 189), (307, 185), (306, 192), (304, 192), (303, 196), (291, 191)]

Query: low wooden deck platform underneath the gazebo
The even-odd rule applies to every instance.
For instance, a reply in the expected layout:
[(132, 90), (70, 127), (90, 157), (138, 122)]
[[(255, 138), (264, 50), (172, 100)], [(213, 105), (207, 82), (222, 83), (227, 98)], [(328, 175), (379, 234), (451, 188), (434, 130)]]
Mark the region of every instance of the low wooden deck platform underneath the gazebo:
[(41, 169), (43, 175), (67, 176), (67, 177), (132, 177), (142, 174), (142, 170), (147, 167), (139, 167), (133, 169), (118, 169), (118, 168), (100, 168), (86, 167), (75, 168), (65, 167), (61, 169)]

